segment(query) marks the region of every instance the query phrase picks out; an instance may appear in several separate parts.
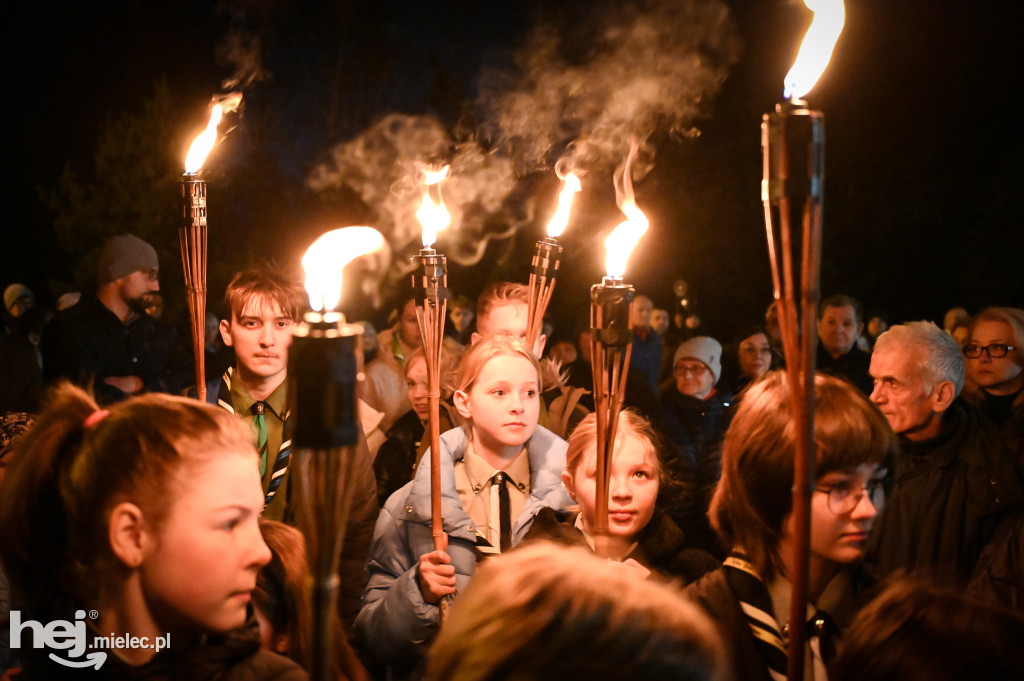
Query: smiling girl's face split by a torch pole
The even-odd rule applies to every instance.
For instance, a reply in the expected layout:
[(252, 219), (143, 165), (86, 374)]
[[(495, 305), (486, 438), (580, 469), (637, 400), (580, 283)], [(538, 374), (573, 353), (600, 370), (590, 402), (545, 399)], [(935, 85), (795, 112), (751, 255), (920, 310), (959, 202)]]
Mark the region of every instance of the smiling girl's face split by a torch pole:
[[(650, 443), (634, 433), (623, 433), (611, 458), (608, 480), (608, 531), (633, 542), (647, 526), (657, 500), (657, 468), (650, 457)], [(597, 443), (584, 455), (572, 475), (562, 473), (562, 481), (580, 504), (584, 523), (593, 529), (597, 510)]]

